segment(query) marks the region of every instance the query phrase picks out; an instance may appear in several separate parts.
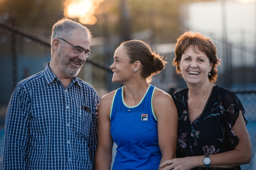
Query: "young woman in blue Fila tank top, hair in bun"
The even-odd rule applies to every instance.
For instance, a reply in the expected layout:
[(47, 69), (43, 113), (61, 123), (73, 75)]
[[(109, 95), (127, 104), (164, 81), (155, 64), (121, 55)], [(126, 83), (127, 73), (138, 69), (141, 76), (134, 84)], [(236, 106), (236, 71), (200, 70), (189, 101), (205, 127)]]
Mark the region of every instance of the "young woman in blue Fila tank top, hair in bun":
[(116, 49), (112, 81), (124, 86), (100, 100), (96, 170), (110, 170), (113, 141), (113, 170), (158, 170), (175, 157), (177, 109), (169, 94), (149, 84), (165, 63), (139, 40)]

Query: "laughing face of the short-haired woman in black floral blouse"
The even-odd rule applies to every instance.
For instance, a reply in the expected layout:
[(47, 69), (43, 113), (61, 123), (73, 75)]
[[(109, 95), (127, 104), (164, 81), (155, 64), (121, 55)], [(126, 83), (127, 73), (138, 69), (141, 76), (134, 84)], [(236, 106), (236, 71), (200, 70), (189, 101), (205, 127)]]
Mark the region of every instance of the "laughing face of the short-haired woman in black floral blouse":
[(212, 64), (205, 52), (200, 51), (197, 45), (194, 47), (189, 45), (181, 56), (179, 66), (182, 76), (187, 84), (208, 83)]

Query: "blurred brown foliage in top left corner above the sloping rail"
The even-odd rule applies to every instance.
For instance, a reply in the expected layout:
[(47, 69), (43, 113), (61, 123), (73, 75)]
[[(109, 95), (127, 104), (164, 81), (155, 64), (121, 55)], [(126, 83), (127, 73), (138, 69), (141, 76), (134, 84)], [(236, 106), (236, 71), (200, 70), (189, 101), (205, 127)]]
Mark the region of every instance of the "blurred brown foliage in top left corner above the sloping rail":
[(0, 0), (5, 22), (49, 40), (51, 27), (63, 15), (63, 0)]

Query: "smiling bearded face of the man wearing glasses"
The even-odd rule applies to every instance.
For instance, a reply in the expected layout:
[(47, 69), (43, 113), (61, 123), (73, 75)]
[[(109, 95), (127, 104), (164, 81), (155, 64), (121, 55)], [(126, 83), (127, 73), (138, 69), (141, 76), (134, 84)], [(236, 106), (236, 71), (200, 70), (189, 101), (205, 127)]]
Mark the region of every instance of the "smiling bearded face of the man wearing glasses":
[[(67, 41), (74, 45), (81, 46), (83, 49), (89, 49), (89, 37), (80, 29), (75, 29), (72, 32), (72, 35), (67, 38)], [(86, 61), (84, 51), (79, 55), (75, 54), (74, 48), (64, 41), (62, 42), (60, 49), (57, 51), (56, 56), (58, 73), (65, 78), (73, 78), (77, 76)]]

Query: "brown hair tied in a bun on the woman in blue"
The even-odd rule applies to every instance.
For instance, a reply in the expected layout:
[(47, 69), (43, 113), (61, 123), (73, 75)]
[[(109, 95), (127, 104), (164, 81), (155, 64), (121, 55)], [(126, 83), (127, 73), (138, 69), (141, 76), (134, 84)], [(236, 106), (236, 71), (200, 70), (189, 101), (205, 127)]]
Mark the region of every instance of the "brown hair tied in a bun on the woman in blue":
[(152, 76), (160, 73), (167, 63), (164, 56), (160, 56), (156, 52), (152, 52), (151, 47), (146, 42), (140, 40), (130, 40), (122, 42), (125, 52), (130, 58), (130, 63), (140, 61), (142, 65), (141, 76), (147, 79), (147, 82), (152, 80)]

